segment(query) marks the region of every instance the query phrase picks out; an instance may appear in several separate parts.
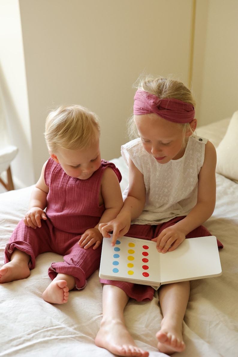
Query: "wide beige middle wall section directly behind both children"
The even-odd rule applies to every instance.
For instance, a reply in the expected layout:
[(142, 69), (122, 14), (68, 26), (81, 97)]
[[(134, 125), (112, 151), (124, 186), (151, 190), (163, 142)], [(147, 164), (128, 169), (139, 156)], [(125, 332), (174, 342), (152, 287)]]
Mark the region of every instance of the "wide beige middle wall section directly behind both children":
[[(18, 6), (15, 0), (1, 0), (1, 7), (6, 2)], [(172, 72), (188, 80), (191, 4), (19, 0), (28, 96), (21, 90), (14, 96), (29, 103), (31, 183), (49, 156), (43, 137), (48, 109), (78, 103), (95, 111), (101, 118), (101, 154), (109, 160), (120, 155), (127, 140), (126, 119), (138, 75)], [(26, 147), (19, 144), (19, 149), (15, 161), (22, 162)], [(29, 184), (26, 171), (16, 174), (12, 166)]]

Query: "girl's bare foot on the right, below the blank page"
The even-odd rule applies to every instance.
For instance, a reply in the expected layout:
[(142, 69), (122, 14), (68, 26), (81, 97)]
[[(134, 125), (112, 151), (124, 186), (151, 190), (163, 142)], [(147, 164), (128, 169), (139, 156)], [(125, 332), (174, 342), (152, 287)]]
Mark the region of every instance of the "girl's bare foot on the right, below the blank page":
[(185, 350), (181, 329), (176, 326), (163, 326), (156, 333), (158, 339), (159, 352), (172, 355), (174, 352), (182, 352)]

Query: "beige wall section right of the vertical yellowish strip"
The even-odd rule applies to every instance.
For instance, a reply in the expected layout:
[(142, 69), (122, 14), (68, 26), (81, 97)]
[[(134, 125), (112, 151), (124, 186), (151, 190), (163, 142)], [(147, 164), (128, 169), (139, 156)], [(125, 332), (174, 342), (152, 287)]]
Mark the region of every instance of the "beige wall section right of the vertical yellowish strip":
[(232, 116), (238, 110), (237, 68), (238, 1), (209, 0), (201, 88), (202, 124)]

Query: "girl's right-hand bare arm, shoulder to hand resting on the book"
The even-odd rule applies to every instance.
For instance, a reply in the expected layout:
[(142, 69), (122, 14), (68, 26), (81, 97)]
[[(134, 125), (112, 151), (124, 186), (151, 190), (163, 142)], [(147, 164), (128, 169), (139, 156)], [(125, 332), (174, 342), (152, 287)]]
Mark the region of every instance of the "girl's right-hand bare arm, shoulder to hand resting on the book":
[(155, 238), (158, 251), (162, 253), (173, 251), (189, 232), (211, 217), (216, 203), (216, 162), (216, 149), (208, 141), (205, 146), (204, 163), (198, 175), (197, 204), (183, 220), (164, 229)]

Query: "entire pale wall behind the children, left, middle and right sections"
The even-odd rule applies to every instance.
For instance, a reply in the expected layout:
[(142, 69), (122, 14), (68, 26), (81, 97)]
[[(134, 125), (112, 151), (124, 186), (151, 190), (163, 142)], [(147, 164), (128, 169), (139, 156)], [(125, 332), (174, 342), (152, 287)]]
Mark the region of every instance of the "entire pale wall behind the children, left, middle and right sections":
[[(95, 111), (102, 157), (110, 160), (127, 141), (132, 84), (141, 72), (172, 73), (189, 84), (194, 2), (0, 0), (0, 23), (11, 20), (1, 25), (4, 34), (15, 28), (9, 43), (0, 38), (0, 73), (7, 115), (16, 124), (11, 136), (19, 146), (12, 171), (22, 185), (36, 182), (49, 157), (43, 136), (47, 110), (77, 103)], [(203, 124), (235, 110), (237, 1), (196, 3), (192, 82)]]

